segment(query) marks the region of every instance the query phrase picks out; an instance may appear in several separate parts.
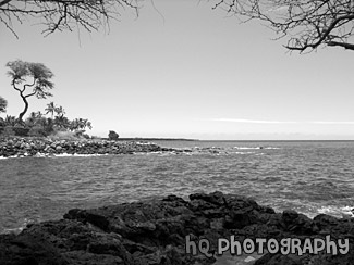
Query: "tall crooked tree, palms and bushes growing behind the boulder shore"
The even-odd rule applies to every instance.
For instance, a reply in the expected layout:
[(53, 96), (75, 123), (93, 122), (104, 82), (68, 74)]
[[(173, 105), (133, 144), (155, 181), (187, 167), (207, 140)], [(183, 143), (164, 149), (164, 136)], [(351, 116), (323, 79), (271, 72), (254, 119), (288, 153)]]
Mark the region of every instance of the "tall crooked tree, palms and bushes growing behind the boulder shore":
[[(11, 86), (20, 93), (21, 100), (24, 102), (24, 109), (19, 116), (7, 115), (0, 117), (0, 137), (76, 137), (86, 138), (89, 136), (86, 129), (91, 129), (91, 123), (87, 118), (69, 119), (65, 116), (65, 110), (61, 105), (56, 105), (53, 101), (47, 104), (41, 111), (28, 111), (27, 98), (36, 96), (38, 99), (47, 99), (52, 97), (49, 92), (53, 89), (54, 84), (50, 80), (53, 73), (41, 63), (23, 62), (21, 60), (8, 62), (8, 72), (11, 78)], [(5, 113), (8, 101), (0, 97), (0, 113)], [(115, 132), (114, 132), (115, 134)], [(114, 137), (118, 138), (118, 134)]]

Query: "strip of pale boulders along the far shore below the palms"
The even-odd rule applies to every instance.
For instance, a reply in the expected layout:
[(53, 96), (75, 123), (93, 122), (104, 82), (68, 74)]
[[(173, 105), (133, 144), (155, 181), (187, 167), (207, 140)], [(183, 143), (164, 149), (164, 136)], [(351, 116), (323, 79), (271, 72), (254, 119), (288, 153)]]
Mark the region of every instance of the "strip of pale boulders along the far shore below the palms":
[(46, 156), (58, 154), (133, 154), (179, 151), (146, 141), (54, 140), (50, 138), (0, 139), (0, 157)]

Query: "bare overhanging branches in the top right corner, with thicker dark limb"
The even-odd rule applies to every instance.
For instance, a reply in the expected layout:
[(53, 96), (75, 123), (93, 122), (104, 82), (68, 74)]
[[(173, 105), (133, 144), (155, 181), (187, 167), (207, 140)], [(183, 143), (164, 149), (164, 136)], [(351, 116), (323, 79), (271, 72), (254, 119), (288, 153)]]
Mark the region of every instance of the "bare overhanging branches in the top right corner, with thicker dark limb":
[(290, 50), (319, 46), (354, 50), (353, 0), (217, 0), (215, 8), (266, 22), (279, 38), (288, 37)]

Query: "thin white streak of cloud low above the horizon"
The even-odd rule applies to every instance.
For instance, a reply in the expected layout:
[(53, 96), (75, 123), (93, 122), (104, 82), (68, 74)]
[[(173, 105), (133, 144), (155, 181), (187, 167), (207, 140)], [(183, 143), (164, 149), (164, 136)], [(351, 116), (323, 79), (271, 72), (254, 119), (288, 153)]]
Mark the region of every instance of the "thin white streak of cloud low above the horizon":
[(228, 123), (247, 123), (247, 124), (324, 124), (324, 125), (354, 125), (354, 122), (346, 121), (309, 121), (309, 122), (293, 122), (293, 121), (261, 121), (246, 118), (209, 118), (211, 122), (228, 122)]

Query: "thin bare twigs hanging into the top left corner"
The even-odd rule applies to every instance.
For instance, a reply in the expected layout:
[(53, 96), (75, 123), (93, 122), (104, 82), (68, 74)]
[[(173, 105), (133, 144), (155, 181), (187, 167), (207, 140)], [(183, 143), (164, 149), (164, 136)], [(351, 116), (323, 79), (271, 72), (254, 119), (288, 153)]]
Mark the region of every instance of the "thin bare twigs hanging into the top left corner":
[(107, 26), (130, 8), (137, 14), (139, 0), (0, 0), (0, 22), (19, 38), (13, 21), (21, 24), (28, 17), (45, 26), (42, 34), (70, 30), (81, 26), (88, 31)]

